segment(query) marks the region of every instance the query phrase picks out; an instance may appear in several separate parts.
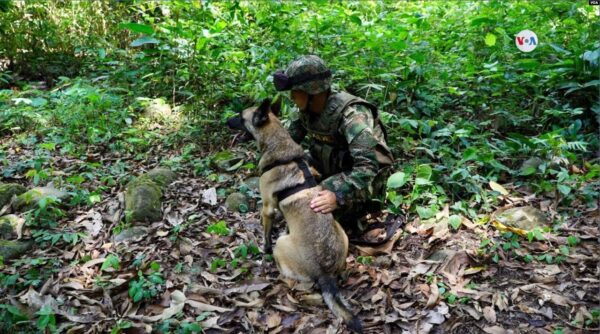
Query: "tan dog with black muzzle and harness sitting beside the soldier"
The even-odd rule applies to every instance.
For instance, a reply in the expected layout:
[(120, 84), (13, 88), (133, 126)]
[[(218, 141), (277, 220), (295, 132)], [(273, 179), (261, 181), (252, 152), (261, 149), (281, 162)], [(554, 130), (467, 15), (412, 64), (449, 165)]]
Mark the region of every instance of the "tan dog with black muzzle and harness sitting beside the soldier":
[[(279, 103), (271, 105), (265, 99), (259, 107), (247, 108), (227, 121), (230, 128), (251, 134), (262, 153), (258, 167), (265, 251), (273, 251), (283, 276), (316, 282), (331, 311), (348, 328), (361, 333), (362, 324), (342, 299), (336, 283), (337, 275), (346, 267), (348, 237), (330, 213), (316, 213), (310, 208), (310, 201), (322, 188), (304, 161), (304, 150), (277, 118), (279, 109)], [(289, 234), (279, 237), (272, 249), (276, 209), (287, 221)]]

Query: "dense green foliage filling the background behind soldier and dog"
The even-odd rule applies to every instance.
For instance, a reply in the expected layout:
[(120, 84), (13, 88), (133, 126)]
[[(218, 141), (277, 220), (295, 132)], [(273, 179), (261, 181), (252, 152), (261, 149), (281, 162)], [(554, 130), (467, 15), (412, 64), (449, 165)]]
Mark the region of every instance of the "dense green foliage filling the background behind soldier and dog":
[[(45, 19), (48, 12), (56, 15)], [(46, 151), (78, 154), (86, 144), (141, 156), (136, 152), (161, 135), (136, 124), (136, 113), (143, 101), (162, 97), (196, 123), (168, 135), (168, 145), (187, 135), (194, 140), (165, 164), (192, 161), (198, 175), (222, 182), (210, 165), (231, 157), (194, 158), (194, 150), (220, 139), (215, 125), (274, 95), (274, 70), (316, 53), (334, 69), (334, 88), (381, 109), (399, 162), (388, 181), (392, 211), (426, 219), (449, 205), (476, 219), (497, 201), (484, 185), (504, 180), (556, 193), (562, 204), (583, 198), (593, 207), (600, 195), (589, 183), (600, 167), (588, 163), (586, 172), (596, 174), (584, 176), (569, 166), (585, 165), (598, 149), (594, 15), (592, 6), (569, 1), (19, 3), (0, 13), (0, 31), (14, 32), (0, 54), (14, 58), (17, 71), (30, 57), (50, 68), (44, 65), (59, 57), (51, 49), (77, 55), (94, 83), (63, 76), (52, 91), (0, 90), (0, 133), (36, 129)], [(521, 22), (543, 40), (535, 52), (515, 49)], [(77, 29), (65, 30), (75, 23)], [(33, 48), (33, 41), (45, 44)], [(530, 157), (541, 163), (522, 168)], [(255, 168), (243, 163), (231, 168)], [(4, 174), (21, 168), (8, 166)], [(38, 164), (27, 176), (41, 183), (53, 171)], [(68, 182), (86, 181), (71, 175)], [(80, 198), (93, 205), (101, 195)]]

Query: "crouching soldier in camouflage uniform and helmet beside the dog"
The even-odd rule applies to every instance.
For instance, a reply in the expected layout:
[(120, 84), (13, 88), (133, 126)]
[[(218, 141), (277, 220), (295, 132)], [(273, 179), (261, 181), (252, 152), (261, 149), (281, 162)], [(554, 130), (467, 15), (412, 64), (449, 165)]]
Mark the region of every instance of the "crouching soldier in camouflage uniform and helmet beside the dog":
[(291, 90), (300, 113), (289, 127), (301, 143), (309, 135), (310, 163), (325, 190), (310, 206), (333, 212), (346, 229), (368, 212), (381, 209), (393, 157), (377, 108), (346, 92), (331, 90), (331, 72), (313, 55), (294, 60), (273, 75), (278, 91)]

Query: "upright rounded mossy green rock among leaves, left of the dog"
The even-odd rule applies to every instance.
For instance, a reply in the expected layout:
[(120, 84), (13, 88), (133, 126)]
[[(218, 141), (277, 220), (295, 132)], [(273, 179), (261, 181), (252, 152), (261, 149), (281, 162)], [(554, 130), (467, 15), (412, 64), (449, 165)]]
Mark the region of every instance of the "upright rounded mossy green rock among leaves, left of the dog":
[(148, 176), (142, 175), (133, 179), (125, 192), (126, 221), (129, 223), (160, 220), (161, 197), (160, 187)]

